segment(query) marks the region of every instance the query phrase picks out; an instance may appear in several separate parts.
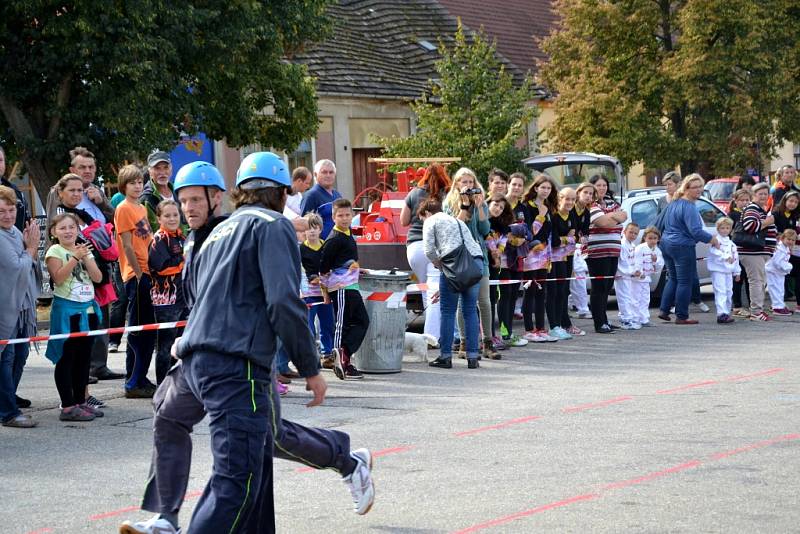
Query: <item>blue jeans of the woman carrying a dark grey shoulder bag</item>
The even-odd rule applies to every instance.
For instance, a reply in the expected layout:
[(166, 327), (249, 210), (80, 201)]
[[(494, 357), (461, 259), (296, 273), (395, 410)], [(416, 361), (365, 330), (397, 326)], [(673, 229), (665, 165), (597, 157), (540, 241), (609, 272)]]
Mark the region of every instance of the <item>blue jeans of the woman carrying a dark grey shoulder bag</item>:
[[(483, 268), (482, 260), (475, 260)], [(467, 336), (467, 358), (478, 357), (478, 338), (480, 337), (480, 326), (478, 324), (478, 293), (481, 283), (456, 293), (447, 283), (444, 274), (439, 277), (439, 302), (442, 311), (441, 329), (439, 332), (439, 346), (441, 346), (441, 357), (451, 358), (453, 356), (453, 329), (456, 323), (456, 311), (458, 302), (461, 300), (461, 311), (464, 314), (464, 332)]]

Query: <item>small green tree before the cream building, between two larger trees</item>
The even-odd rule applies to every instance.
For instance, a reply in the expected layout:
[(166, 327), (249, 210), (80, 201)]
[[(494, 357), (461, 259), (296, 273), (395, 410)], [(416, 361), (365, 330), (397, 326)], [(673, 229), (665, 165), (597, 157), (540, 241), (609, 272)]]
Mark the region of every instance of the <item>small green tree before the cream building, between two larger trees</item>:
[(517, 146), (536, 108), (530, 79), (517, 88), (483, 32), (467, 37), (459, 23), (454, 42), (439, 43), (438, 80), (430, 95), (412, 104), (417, 131), (405, 138), (384, 138), (390, 157), (460, 157), (485, 178), (493, 167), (521, 169), (527, 153)]

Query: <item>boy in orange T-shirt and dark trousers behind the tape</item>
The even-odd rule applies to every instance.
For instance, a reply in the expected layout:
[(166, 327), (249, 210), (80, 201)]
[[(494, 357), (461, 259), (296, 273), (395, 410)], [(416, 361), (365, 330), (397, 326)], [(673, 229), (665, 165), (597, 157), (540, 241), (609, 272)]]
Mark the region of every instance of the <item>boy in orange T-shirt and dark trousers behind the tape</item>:
[[(125, 200), (114, 213), (114, 226), (120, 250), (120, 271), (128, 296), (128, 326), (150, 324), (155, 322), (155, 314), (150, 299), (152, 281), (147, 258), (153, 234), (147, 221), (147, 209), (139, 202), (144, 176), (135, 165), (126, 165), (120, 169), (118, 178), (119, 191), (125, 195)], [(126, 398), (151, 398), (155, 393), (155, 385), (147, 380), (155, 342), (155, 331), (128, 334)]]

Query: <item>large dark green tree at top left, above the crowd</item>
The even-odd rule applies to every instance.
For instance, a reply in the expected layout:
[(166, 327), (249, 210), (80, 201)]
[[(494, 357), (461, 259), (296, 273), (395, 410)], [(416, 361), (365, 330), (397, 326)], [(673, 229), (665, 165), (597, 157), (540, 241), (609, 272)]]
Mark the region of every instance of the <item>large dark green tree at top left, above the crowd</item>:
[[(292, 149), (313, 135), (304, 67), (329, 0), (7, 0), (0, 3), (0, 142), (39, 191), (75, 145), (111, 165), (204, 131)], [(266, 113), (265, 113), (266, 111)]]

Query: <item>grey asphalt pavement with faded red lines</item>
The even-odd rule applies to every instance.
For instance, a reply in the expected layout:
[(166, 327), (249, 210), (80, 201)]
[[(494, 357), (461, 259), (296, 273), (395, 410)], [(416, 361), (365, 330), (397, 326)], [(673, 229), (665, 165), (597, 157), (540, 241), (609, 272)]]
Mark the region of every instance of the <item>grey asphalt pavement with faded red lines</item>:
[[(327, 400), (313, 409), (293, 384), (284, 416), (369, 447), (377, 499), (356, 516), (335, 473), (278, 460), (278, 531), (800, 532), (800, 315), (693, 317), (701, 324), (654, 317), (640, 331), (507, 350), (477, 370), (406, 363), (360, 382), (326, 372)], [(149, 402), (101, 382), (105, 418), (62, 423), (52, 373), (33, 353), (20, 387), (40, 426), (0, 428), (3, 532), (116, 532), (146, 519)], [(205, 423), (194, 443), (183, 525), (210, 472)]]

